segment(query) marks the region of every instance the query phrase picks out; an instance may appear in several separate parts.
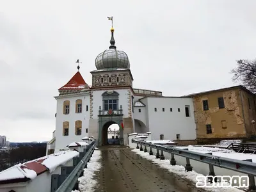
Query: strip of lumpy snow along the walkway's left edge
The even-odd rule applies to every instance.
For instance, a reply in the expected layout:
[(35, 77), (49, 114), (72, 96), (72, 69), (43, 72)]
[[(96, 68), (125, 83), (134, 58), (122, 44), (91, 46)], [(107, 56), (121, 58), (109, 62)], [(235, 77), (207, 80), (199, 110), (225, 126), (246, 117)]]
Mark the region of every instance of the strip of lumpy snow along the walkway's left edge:
[[(95, 148), (96, 149), (96, 148)], [(95, 191), (97, 180), (93, 179), (95, 172), (101, 168), (99, 159), (101, 157), (101, 151), (95, 150), (91, 157), (90, 162), (87, 163), (87, 168), (84, 169), (83, 177), (80, 177), (79, 182), (79, 191), (75, 190), (72, 192), (93, 192)]]

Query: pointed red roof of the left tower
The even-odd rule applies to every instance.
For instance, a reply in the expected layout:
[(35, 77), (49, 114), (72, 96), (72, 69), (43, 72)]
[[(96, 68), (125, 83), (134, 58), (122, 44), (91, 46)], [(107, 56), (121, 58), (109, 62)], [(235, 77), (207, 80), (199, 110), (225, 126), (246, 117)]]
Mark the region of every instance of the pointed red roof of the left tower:
[(89, 88), (88, 84), (85, 83), (83, 77), (78, 71), (67, 84), (61, 86), (59, 90), (82, 90), (84, 88)]

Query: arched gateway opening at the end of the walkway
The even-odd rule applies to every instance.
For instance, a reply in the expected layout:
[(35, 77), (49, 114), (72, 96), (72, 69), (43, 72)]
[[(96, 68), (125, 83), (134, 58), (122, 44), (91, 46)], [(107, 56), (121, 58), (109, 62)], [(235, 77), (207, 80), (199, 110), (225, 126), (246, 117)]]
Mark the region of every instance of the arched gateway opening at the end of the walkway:
[(103, 125), (102, 145), (120, 145), (120, 130), (116, 122), (109, 121)]

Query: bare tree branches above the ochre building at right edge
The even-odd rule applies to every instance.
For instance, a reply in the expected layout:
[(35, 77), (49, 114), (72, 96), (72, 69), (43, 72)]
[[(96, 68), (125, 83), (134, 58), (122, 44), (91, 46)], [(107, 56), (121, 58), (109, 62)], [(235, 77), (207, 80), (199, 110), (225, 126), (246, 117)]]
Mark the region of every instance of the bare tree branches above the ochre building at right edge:
[(233, 68), (232, 81), (241, 81), (243, 86), (256, 93), (256, 60), (238, 60), (237, 68)]

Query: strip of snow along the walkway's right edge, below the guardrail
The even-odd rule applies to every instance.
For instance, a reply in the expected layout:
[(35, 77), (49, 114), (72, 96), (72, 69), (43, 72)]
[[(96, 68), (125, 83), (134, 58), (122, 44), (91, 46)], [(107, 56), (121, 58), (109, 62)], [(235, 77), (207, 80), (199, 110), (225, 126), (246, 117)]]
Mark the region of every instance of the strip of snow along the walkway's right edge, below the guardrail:
[[(170, 159), (168, 159), (168, 160), (156, 159), (156, 156), (150, 156), (148, 152), (140, 151), (140, 149), (133, 149), (132, 152), (136, 152), (136, 154), (139, 154), (141, 157), (151, 160), (153, 163), (158, 164), (161, 168), (165, 168), (165, 169), (169, 170), (169, 172), (180, 175), (180, 177), (182, 177), (182, 178), (191, 180), (191, 182), (193, 182), (194, 184), (196, 184), (196, 176), (202, 175), (200, 173), (196, 173), (195, 171), (185, 172), (184, 166), (181, 166), (181, 165), (173, 166), (170, 164)], [(214, 188), (214, 189), (213, 188), (204, 188), (204, 189), (207, 191), (211, 191), (211, 192), (242, 192), (242, 190), (237, 189), (237, 188)]]

